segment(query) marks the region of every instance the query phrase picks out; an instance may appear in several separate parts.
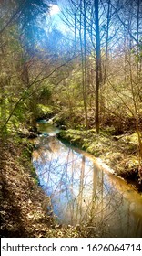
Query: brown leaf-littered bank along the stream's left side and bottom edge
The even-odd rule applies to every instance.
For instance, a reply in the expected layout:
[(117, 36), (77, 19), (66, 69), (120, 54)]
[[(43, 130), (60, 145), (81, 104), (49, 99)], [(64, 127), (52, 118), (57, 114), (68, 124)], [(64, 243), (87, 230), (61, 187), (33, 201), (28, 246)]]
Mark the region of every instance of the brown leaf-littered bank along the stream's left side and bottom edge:
[[(9, 139), (0, 152), (0, 236), (105, 237), (106, 227), (97, 223), (64, 226), (56, 223), (50, 198), (38, 186), (31, 164), (32, 146), (26, 139)], [(101, 225), (101, 226), (100, 226)]]

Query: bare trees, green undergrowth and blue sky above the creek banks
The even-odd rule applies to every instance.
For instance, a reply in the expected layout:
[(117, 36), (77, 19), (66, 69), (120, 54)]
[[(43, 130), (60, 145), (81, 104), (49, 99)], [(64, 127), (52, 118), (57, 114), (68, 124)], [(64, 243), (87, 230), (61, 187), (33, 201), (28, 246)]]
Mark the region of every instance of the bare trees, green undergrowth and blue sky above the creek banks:
[(137, 131), (141, 147), (141, 1), (0, 5), (3, 135), (35, 125), (42, 105), (73, 128)]

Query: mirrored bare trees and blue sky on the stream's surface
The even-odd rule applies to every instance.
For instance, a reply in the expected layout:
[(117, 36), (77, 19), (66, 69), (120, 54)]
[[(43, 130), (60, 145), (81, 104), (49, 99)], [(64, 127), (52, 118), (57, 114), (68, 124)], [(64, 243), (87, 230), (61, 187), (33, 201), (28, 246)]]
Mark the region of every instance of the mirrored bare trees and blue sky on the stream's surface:
[(72, 225), (94, 225), (112, 218), (122, 196), (116, 197), (104, 171), (86, 155), (65, 149), (55, 137), (48, 139), (45, 150), (44, 146), (35, 153), (34, 165), (57, 219)]

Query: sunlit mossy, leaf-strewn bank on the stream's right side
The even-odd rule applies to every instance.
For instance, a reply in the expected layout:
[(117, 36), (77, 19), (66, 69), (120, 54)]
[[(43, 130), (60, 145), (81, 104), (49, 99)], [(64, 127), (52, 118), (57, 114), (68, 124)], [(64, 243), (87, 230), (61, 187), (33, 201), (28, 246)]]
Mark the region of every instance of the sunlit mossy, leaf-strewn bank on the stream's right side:
[(138, 192), (142, 192), (142, 183), (138, 176), (136, 133), (114, 136), (103, 131), (97, 134), (95, 129), (88, 131), (69, 129), (61, 131), (57, 136), (99, 157), (114, 170), (116, 176), (124, 178)]

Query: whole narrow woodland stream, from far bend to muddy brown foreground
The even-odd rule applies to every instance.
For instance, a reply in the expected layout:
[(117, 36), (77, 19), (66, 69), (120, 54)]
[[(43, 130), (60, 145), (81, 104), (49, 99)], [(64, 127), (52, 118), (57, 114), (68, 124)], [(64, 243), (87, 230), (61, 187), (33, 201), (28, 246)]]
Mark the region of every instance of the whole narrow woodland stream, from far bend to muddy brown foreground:
[(56, 127), (37, 126), (43, 134), (35, 139), (33, 165), (57, 221), (92, 226), (102, 221), (108, 237), (142, 237), (141, 195), (92, 155), (59, 141)]

